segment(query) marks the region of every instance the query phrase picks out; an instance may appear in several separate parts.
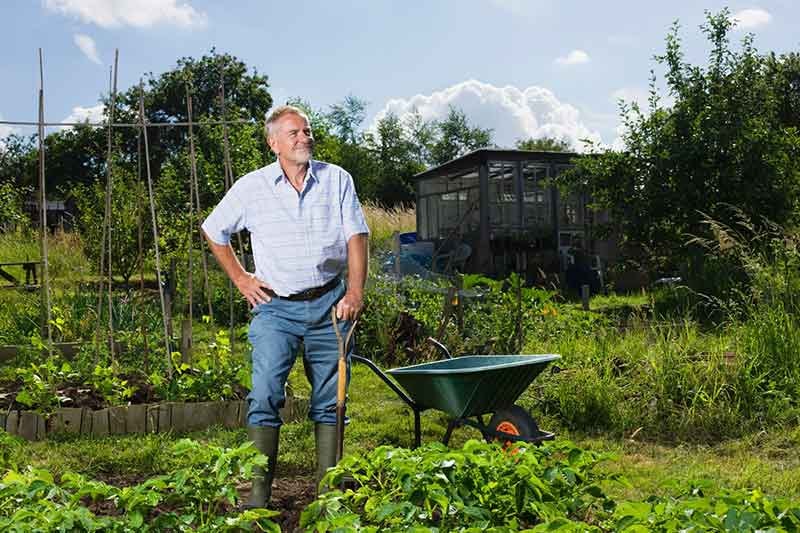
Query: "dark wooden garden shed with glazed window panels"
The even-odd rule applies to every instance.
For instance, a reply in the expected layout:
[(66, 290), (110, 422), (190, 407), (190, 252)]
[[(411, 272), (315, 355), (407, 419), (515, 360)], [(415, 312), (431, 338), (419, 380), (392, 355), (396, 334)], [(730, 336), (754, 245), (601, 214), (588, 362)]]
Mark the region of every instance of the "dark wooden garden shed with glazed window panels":
[(418, 239), (433, 242), (435, 256), (461, 262), (465, 272), (532, 279), (540, 270), (567, 272), (576, 259), (601, 270), (618, 256), (616, 239), (597, 231), (608, 213), (589, 209), (586, 195), (564, 197), (551, 184), (577, 157), (483, 149), (417, 174)]

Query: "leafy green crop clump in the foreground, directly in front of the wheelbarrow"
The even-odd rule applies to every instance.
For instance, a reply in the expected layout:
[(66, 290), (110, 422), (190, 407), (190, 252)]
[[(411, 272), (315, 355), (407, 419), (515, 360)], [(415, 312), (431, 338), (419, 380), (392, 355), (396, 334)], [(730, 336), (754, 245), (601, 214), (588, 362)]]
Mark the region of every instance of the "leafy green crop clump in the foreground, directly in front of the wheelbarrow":
[(325, 493), (303, 512), (301, 525), (319, 532), (516, 531), (582, 519), (613, 508), (601, 486), (616, 478), (597, 468), (605, 459), (569, 442), (505, 450), (478, 441), (461, 450), (381, 446), (330, 470), (322, 485), (335, 488), (350, 476), (357, 488)]

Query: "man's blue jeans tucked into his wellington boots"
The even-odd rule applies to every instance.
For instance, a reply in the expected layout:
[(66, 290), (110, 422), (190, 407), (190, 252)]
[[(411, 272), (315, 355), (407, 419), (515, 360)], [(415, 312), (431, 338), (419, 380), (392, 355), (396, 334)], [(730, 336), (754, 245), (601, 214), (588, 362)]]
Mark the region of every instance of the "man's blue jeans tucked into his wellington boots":
[[(286, 397), (284, 386), (303, 342), (303, 363), (311, 383), (309, 418), (323, 424), (336, 423), (336, 385), (339, 349), (331, 321), (331, 307), (345, 292), (344, 282), (319, 298), (289, 301), (273, 298), (253, 309), (248, 337), (253, 345), (253, 388), (247, 395), (247, 424), (280, 427), (278, 409)], [(342, 339), (351, 322), (339, 321)], [(350, 382), (351, 341), (347, 354)]]

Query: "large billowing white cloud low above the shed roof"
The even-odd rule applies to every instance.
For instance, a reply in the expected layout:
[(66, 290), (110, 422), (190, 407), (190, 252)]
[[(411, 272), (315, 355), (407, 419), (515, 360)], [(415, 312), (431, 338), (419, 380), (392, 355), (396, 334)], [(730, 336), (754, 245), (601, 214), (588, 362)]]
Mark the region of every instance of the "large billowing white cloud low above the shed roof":
[(562, 139), (579, 150), (584, 148), (581, 139), (600, 141), (600, 134), (584, 124), (578, 109), (561, 102), (549, 89), (495, 87), (476, 80), (430, 95), (389, 100), (375, 116), (371, 129), (387, 113), (404, 119), (416, 110), (423, 120), (441, 120), (450, 106), (463, 111), (472, 124), (491, 128), (494, 142), (502, 147), (511, 148), (517, 140), (530, 137)]

